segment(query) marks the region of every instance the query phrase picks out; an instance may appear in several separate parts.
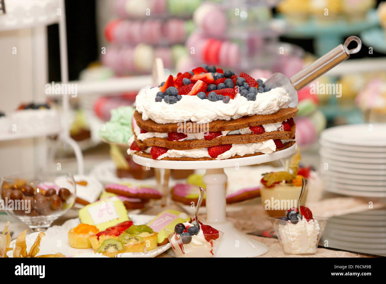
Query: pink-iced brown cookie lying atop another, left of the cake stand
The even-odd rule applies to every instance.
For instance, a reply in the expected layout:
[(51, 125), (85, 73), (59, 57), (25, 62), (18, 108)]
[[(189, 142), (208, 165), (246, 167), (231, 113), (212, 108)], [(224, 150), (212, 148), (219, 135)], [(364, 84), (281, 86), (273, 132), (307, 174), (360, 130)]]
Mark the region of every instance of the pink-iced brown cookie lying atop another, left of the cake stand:
[(161, 193), (151, 187), (137, 187), (131, 184), (108, 184), (106, 192), (139, 199), (160, 199)]

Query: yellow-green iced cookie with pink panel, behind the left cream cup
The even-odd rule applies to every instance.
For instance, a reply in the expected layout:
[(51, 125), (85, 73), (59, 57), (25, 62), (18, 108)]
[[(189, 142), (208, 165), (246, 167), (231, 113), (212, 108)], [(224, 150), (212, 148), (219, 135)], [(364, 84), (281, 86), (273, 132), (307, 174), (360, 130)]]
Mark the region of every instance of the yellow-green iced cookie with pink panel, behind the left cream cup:
[(152, 219), (147, 226), (158, 233), (158, 245), (164, 245), (168, 243), (168, 237), (166, 236), (164, 228), (174, 228), (178, 223), (184, 223), (190, 221), (190, 217), (177, 210), (165, 210), (159, 213), (156, 218)]

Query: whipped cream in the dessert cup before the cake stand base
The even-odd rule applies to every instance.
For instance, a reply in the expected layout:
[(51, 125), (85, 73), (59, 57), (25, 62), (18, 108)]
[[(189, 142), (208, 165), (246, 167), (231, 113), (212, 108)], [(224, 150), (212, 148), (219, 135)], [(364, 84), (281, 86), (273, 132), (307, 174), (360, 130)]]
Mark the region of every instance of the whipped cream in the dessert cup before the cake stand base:
[[(192, 226), (192, 224), (188, 222), (183, 224), (185, 228)], [(176, 234), (171, 237), (170, 244), (178, 257), (213, 257), (213, 252), (216, 252), (219, 245), (217, 240), (205, 240), (202, 230), (200, 230), (197, 235), (191, 237), (192, 240), (188, 244), (183, 244), (181, 238)]]

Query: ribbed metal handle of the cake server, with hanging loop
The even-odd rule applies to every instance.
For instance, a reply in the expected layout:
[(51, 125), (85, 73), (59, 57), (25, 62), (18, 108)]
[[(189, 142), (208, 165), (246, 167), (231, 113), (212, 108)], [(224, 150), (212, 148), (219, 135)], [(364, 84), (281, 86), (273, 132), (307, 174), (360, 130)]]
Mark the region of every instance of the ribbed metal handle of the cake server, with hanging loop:
[[(347, 46), (349, 46), (350, 42), (352, 41), (357, 43), (357, 47), (354, 49), (348, 49)], [(350, 54), (357, 53), (359, 50), (361, 50), (361, 47), (362, 42), (359, 37), (348, 37), (344, 44), (339, 44), (339, 46), (332, 49), (330, 52), (326, 53), (321, 58), (311, 63), (306, 68), (293, 75), (290, 78), (292, 85), (296, 90), (300, 90), (305, 85), (322, 76), (328, 70), (345, 61), (350, 57)]]

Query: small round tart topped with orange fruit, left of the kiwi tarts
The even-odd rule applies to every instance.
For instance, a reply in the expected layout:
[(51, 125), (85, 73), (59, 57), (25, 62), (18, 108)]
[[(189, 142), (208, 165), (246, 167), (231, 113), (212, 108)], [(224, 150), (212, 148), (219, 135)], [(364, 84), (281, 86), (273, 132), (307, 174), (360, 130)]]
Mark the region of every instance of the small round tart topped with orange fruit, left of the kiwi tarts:
[(68, 231), (68, 242), (73, 248), (92, 248), (89, 237), (98, 232), (97, 227), (80, 223)]

